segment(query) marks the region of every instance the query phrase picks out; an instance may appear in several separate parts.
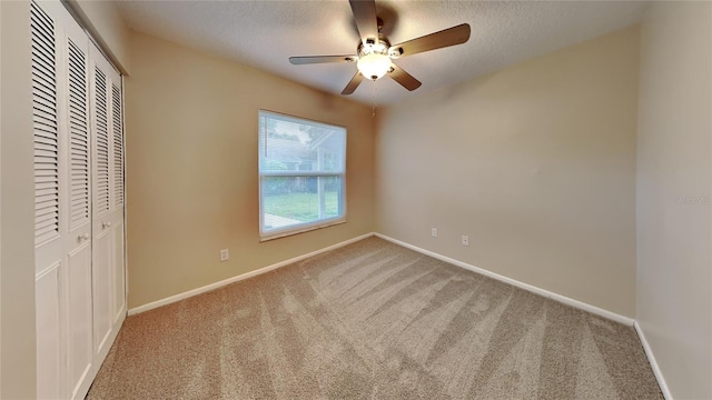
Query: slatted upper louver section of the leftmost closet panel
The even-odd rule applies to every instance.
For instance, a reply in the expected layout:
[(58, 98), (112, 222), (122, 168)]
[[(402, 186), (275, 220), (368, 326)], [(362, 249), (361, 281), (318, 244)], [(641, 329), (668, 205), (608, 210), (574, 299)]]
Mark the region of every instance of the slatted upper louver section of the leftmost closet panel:
[(55, 23), (30, 6), (32, 122), (34, 127), (34, 242), (59, 234), (59, 138)]

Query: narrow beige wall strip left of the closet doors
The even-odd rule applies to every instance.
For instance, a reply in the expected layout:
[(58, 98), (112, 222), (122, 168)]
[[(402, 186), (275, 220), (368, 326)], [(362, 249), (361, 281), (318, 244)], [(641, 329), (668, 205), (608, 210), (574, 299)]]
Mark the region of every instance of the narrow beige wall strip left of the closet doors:
[(1, 1), (0, 113), (0, 398), (34, 397), (34, 177), (30, 76), (30, 8)]

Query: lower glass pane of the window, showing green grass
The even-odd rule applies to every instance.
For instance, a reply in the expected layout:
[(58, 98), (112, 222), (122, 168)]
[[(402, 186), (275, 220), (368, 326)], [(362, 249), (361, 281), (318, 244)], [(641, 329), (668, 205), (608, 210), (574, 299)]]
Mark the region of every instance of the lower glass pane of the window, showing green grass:
[(342, 177), (264, 177), (263, 230), (343, 216)]

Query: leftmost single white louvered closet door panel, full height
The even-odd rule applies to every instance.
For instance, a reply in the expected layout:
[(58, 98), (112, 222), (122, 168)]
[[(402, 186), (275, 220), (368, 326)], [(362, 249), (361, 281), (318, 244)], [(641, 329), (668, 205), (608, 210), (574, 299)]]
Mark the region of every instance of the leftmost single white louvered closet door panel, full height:
[[(55, 11), (55, 10), (52, 10)], [(37, 318), (38, 398), (61, 398), (62, 304), (60, 287), (66, 268), (60, 216), (59, 96), (57, 76), (61, 42), (56, 21), (34, 2), (30, 4), (32, 124), (34, 136), (34, 279)]]

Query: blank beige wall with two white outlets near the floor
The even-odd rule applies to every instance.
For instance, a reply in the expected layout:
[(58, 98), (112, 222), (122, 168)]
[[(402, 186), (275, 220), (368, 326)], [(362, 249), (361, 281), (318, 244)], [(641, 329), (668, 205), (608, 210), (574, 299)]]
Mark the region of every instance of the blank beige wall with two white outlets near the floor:
[(639, 30), (387, 108), (376, 230), (634, 317)]

